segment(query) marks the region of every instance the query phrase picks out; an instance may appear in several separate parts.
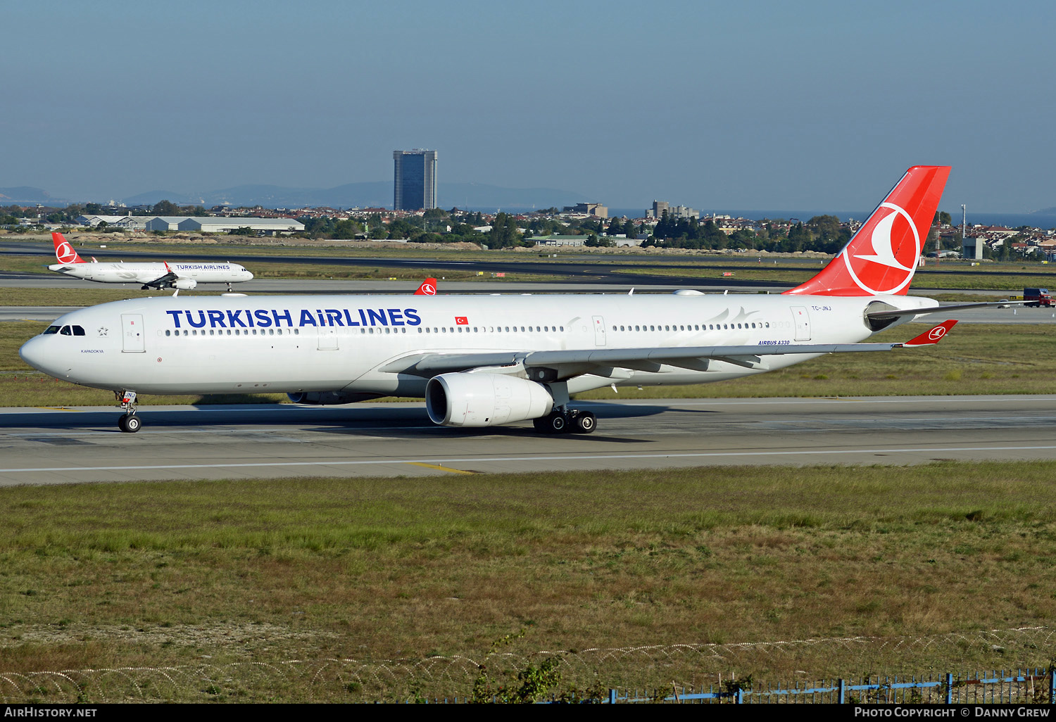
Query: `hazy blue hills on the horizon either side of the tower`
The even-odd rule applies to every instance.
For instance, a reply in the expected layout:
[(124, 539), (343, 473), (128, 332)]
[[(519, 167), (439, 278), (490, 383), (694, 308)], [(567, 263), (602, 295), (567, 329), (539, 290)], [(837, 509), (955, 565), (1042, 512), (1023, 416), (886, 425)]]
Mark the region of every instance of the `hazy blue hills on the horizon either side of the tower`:
[[(440, 183), (437, 201), (441, 208), (549, 208), (570, 206), (581, 201), (593, 201), (582, 193), (554, 188), (502, 188), (479, 183)], [(149, 191), (121, 198), (129, 206), (171, 201), (185, 205), (264, 206), (265, 208), (301, 208), (331, 206), (340, 208), (392, 208), (393, 185), (389, 180), (350, 183), (336, 188), (286, 188), (283, 186), (235, 186), (207, 193)]]

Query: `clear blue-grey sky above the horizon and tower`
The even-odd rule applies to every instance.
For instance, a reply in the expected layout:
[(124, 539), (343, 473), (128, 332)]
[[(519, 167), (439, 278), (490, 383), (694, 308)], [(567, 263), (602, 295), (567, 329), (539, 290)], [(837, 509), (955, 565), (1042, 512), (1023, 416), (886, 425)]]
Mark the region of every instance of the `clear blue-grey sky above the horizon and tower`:
[(392, 178), (612, 208), (1056, 206), (1056, 3), (35, 0), (3, 5), (0, 187), (107, 201)]

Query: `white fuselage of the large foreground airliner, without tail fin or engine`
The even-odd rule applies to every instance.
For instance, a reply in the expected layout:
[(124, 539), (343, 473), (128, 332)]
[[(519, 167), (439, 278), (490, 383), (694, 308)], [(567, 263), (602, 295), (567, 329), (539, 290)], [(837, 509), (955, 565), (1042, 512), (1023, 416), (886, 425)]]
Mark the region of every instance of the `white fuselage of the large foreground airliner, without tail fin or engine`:
[[(856, 343), (872, 334), (864, 312), (876, 302), (935, 305), (904, 296), (164, 297), (67, 314), (20, 355), (60, 379), (139, 394), (422, 396), (428, 379), (386, 364), (415, 354)], [(617, 369), (576, 377), (568, 391), (721, 381), (814, 356), (769, 356), (762, 368)]]

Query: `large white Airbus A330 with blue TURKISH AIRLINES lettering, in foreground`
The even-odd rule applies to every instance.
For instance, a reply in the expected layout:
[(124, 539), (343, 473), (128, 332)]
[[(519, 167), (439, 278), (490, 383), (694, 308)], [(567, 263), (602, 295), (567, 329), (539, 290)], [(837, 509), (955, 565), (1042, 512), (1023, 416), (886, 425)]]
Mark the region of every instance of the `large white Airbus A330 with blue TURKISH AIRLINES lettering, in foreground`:
[(939, 306), (907, 297), (948, 167), (910, 168), (816, 277), (780, 296), (268, 296), (148, 298), (67, 314), (19, 350), (58, 379), (115, 392), (138, 431), (137, 394), (281, 392), (308, 404), (423, 397), (433, 422), (532, 420), (595, 430), (569, 395), (762, 374), (861, 343)]

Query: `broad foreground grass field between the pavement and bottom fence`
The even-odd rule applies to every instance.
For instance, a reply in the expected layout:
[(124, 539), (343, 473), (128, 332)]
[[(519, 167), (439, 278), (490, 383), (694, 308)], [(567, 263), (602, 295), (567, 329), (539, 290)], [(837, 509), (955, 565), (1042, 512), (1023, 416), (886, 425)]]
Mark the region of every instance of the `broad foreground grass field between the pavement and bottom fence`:
[[(1054, 476), (1033, 461), (5, 488), (0, 671), (204, 663), (231, 683), (228, 664), (354, 659), (383, 678), (360, 691), (402, 695), (425, 682), (385, 660), (480, 660), (520, 629), (495, 669), (670, 648), (569, 654), (567, 679), (606, 684), (1043, 665), (1050, 648), (972, 640), (1052, 624)], [(891, 642), (948, 634), (963, 638)], [(880, 639), (670, 647), (851, 636)]]

